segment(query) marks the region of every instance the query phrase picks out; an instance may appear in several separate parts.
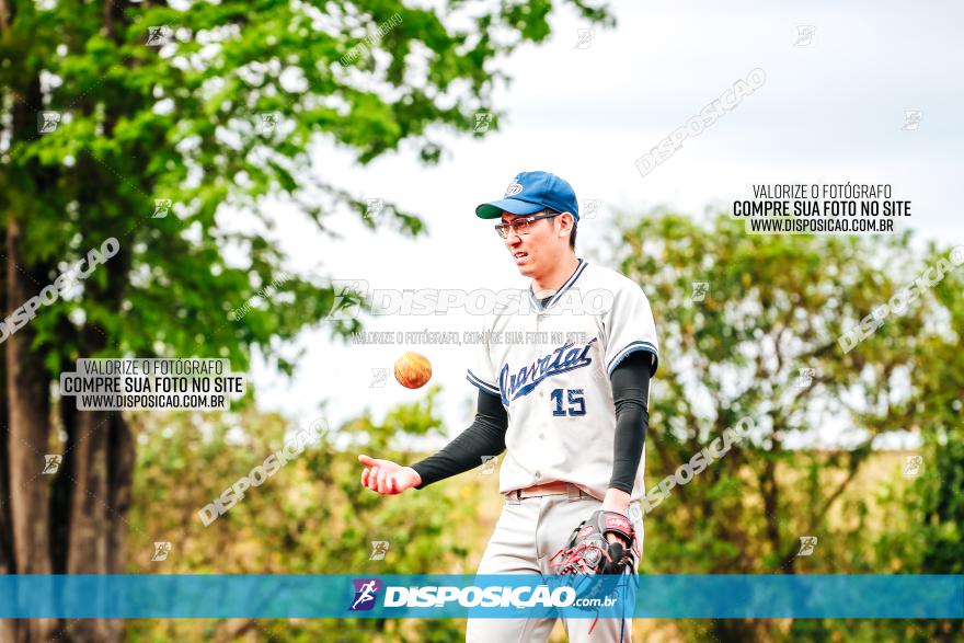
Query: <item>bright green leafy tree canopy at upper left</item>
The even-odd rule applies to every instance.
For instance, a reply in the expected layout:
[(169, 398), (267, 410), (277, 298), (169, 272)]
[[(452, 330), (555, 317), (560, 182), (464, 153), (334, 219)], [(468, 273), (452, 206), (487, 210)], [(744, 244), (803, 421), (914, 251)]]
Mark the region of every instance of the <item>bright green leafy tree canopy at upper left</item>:
[[(572, 4), (588, 21), (612, 23), (602, 8)], [(314, 143), (366, 164), (408, 141), (423, 162), (437, 161), (429, 127), (469, 133), (475, 112), (495, 112), (491, 95), (504, 76), (494, 60), (544, 39), (552, 3), (8, 8), (0, 87), (12, 127), (0, 142), (0, 227), (11, 216), (30, 222), (26, 267), (50, 279), (58, 262), (104, 239), (122, 244), (110, 271), (32, 322), (37, 346), (55, 347), (47, 365), (56, 377), (77, 357), (131, 354), (229, 357), (244, 370), (254, 347), (291, 372), (278, 341), (323, 318), (335, 292), (295, 275), (271, 306), (257, 296), (285, 269), (266, 203), (292, 204), (330, 236), (325, 220), (336, 211), (362, 217), (365, 199), (331, 183)], [(42, 111), (62, 114), (55, 131), (37, 135)], [(165, 217), (153, 217), (157, 199), (170, 199)], [(390, 203), (385, 211), (401, 233), (425, 230), (413, 213)], [(231, 319), (252, 300), (251, 313)], [(84, 341), (84, 326), (97, 342)], [(357, 330), (331, 324), (336, 335)]]

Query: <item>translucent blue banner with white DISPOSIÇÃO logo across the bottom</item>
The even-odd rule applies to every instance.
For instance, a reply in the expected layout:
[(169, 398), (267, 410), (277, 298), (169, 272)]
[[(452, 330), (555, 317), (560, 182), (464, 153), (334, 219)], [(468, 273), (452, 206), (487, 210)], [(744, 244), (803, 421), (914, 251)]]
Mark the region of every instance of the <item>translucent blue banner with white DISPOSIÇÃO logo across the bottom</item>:
[(962, 575), (22, 575), (0, 618), (964, 618)]

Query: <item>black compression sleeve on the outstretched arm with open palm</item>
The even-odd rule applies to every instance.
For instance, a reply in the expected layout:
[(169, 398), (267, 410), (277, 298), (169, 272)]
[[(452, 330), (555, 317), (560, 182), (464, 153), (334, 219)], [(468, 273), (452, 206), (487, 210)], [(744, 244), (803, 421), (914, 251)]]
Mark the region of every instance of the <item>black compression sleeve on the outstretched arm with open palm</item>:
[(472, 425), (434, 456), (412, 464), (422, 476), (415, 489), (474, 469), (482, 464), (482, 456), (498, 456), (505, 450), (507, 427), (508, 415), (500, 397), (480, 390)]

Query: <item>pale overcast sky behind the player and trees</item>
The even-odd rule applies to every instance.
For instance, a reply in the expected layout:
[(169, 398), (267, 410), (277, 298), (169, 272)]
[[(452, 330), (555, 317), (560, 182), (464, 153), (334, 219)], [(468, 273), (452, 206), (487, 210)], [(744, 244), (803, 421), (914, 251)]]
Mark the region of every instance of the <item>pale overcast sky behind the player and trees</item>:
[[(474, 207), (500, 198), (517, 172), (530, 170), (566, 179), (579, 200), (601, 200), (599, 216), (579, 226), (578, 254), (589, 261), (604, 250), (616, 211), (668, 205), (699, 216), (768, 182), (890, 183), (894, 197), (913, 202), (913, 216), (897, 221), (898, 230), (964, 242), (956, 200), (964, 169), (960, 5), (616, 2), (615, 13), (617, 27), (596, 27), (584, 48), (576, 44), (587, 25), (556, 13), (548, 43), (502, 64), (515, 80), (496, 93), (506, 113), (500, 131), (443, 136), (447, 152), (438, 167), (421, 165), (411, 146), (364, 169), (348, 153), (320, 148), (326, 181), (398, 203), (418, 214), (429, 233), (417, 241), (374, 234), (351, 216), (335, 216), (331, 226), (345, 241), (332, 241), (297, 213), (278, 209), (275, 236), (291, 267), (320, 282), (365, 279), (371, 288), (527, 287)], [(806, 46), (800, 25), (813, 26)], [(640, 174), (638, 158), (756, 68), (766, 72), (762, 87)], [(922, 112), (915, 130), (904, 128), (908, 110)], [(392, 315), (367, 328), (461, 334), (480, 323), (464, 314)], [(329, 400), (332, 423), (366, 406), (378, 418), (424, 397), (424, 389), (403, 389), (391, 377), (385, 388), (369, 388), (374, 368), (390, 368), (414, 349), (431, 359), (432, 381), (444, 387), (450, 436), (468, 426), (475, 389), (464, 369), (472, 346), (351, 346), (328, 335), (303, 333), (308, 351), (290, 380), (254, 368), (263, 407), (307, 423)]]

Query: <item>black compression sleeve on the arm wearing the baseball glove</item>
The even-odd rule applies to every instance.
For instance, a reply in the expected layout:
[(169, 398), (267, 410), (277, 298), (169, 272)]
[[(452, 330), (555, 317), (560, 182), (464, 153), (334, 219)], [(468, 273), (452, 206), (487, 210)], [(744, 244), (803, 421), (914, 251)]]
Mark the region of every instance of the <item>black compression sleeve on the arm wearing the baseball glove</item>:
[(612, 401), (616, 404), (616, 444), (609, 486), (632, 493), (650, 427), (650, 365), (645, 351), (631, 353), (612, 371)]

